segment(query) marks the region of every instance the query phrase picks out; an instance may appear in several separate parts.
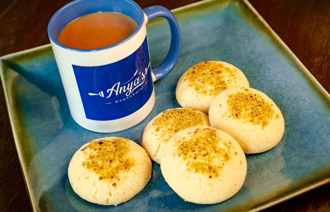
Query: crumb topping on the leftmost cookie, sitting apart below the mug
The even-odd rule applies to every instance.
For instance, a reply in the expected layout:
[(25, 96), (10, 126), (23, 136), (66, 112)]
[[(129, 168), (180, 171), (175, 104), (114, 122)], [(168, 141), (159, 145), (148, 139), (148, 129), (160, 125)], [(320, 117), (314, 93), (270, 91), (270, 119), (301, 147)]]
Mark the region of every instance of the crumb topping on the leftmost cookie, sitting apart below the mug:
[(127, 157), (129, 146), (125, 138), (90, 141), (81, 151), (87, 155), (82, 166), (98, 174), (100, 180), (119, 180), (118, 173), (128, 171), (135, 164), (133, 158)]

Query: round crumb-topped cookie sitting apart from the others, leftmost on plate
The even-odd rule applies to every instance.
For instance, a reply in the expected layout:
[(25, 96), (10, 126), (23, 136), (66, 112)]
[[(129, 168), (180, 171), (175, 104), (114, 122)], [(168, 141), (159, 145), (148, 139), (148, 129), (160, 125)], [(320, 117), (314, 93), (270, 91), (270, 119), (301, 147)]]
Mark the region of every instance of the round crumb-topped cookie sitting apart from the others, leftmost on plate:
[(138, 194), (151, 176), (147, 152), (132, 140), (104, 137), (83, 145), (72, 157), (68, 176), (83, 199), (117, 205)]

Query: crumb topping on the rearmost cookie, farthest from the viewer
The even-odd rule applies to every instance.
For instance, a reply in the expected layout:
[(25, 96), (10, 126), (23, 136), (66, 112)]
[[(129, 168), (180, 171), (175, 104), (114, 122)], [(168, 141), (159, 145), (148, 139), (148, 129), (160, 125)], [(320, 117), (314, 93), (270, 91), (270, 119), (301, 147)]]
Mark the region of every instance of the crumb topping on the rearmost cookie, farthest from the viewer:
[[(204, 61), (191, 67), (187, 73), (189, 86), (201, 94), (217, 95), (227, 89), (230, 83), (236, 82), (237, 69), (230, 69), (215, 61)], [(226, 77), (230, 77), (226, 79)], [(210, 89), (210, 87), (212, 89)]]

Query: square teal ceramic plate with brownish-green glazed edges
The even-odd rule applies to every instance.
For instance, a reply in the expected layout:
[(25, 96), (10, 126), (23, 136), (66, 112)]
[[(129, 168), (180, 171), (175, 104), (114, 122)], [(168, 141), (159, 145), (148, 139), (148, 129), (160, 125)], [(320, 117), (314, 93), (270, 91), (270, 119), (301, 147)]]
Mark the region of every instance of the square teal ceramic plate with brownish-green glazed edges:
[[(173, 10), (182, 30), (182, 52), (174, 70), (154, 83), (156, 102), (135, 127), (112, 134), (83, 129), (72, 119), (50, 45), (1, 58), (1, 79), (19, 160), (35, 211), (258, 211), (330, 181), (330, 96), (251, 5), (211, 0)], [(163, 19), (147, 24), (151, 64), (158, 65), (170, 43)], [(84, 143), (104, 136), (141, 145), (144, 128), (158, 113), (180, 107), (179, 77), (205, 60), (240, 68), (250, 86), (279, 106), (285, 131), (273, 149), (247, 155), (241, 190), (219, 204), (183, 201), (153, 163), (145, 189), (118, 206), (78, 197), (67, 175), (71, 157)]]

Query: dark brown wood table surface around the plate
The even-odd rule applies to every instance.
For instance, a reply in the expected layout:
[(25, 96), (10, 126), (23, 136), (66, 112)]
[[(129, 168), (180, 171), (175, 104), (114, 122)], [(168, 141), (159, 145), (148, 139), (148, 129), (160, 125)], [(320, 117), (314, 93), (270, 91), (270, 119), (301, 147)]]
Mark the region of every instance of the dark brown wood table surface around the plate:
[[(196, 0), (138, 0), (141, 8), (178, 8)], [(50, 17), (69, 0), (1, 0), (0, 56), (49, 44)], [(330, 1), (250, 0), (299, 60), (330, 91)], [(0, 88), (2, 90), (2, 87)], [(0, 92), (0, 211), (31, 211), (3, 92)], [(329, 138), (330, 139), (330, 138)], [(330, 142), (330, 140), (329, 140)], [(330, 211), (330, 184), (282, 202), (267, 212)]]

